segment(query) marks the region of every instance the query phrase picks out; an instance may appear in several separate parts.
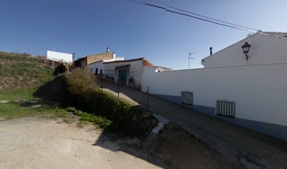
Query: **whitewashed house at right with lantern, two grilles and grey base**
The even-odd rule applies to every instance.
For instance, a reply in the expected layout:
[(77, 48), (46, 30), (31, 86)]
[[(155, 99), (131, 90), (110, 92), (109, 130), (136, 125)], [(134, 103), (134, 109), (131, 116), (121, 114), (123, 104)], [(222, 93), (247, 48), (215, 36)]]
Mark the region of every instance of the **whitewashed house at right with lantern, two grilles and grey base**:
[(191, 70), (144, 68), (141, 89), (287, 140), (287, 33), (257, 32), (202, 62)]

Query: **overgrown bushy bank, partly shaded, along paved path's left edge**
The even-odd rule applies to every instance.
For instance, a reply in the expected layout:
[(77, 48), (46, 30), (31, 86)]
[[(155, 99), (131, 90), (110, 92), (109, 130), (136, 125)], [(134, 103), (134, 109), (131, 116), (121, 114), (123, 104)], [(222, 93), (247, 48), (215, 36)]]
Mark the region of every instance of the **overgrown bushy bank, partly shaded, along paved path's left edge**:
[[(50, 83), (50, 84), (49, 84)], [(72, 70), (49, 82), (38, 93), (44, 98), (60, 101), (67, 110), (79, 115), (81, 120), (97, 124), (108, 131), (131, 137), (143, 137), (157, 125), (152, 117), (143, 118), (143, 110), (103, 92), (96, 86), (93, 75), (86, 69)], [(56, 94), (55, 96), (50, 96)], [(53, 100), (53, 101), (55, 101)], [(78, 111), (80, 110), (80, 111)]]

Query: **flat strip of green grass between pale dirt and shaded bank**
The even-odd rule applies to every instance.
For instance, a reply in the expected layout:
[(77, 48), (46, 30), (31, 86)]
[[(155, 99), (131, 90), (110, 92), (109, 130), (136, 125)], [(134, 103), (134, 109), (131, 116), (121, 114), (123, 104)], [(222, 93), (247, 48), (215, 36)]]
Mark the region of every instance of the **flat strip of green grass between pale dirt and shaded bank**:
[[(9, 101), (8, 104), (0, 104), (0, 119), (13, 119), (25, 117), (43, 117), (49, 119), (63, 118), (63, 122), (72, 123), (75, 118), (71, 113), (80, 117), (82, 122), (90, 122), (103, 129), (110, 127), (112, 122), (98, 115), (92, 115), (76, 108), (63, 108), (59, 104), (43, 101), (33, 96), (34, 90), (0, 91), (0, 100)], [(19, 100), (39, 101), (37, 104), (49, 104), (47, 108), (32, 108), (32, 105), (25, 105)], [(80, 123), (81, 125), (84, 123)]]

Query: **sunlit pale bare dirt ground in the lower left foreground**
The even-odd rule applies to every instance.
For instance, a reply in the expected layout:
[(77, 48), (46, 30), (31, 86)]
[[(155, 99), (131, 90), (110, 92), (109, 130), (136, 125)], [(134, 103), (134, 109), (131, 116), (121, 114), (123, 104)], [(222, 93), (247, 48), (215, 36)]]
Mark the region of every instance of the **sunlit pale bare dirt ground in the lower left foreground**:
[(0, 121), (0, 168), (159, 168), (129, 155), (119, 145), (93, 145), (101, 136), (93, 125), (21, 118)]

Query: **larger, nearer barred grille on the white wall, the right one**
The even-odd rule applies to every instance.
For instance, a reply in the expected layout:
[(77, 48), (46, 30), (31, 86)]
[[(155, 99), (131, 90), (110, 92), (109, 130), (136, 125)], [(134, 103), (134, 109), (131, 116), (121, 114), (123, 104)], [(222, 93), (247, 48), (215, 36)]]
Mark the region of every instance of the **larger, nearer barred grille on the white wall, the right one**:
[(235, 102), (216, 101), (216, 115), (223, 115), (229, 118), (235, 118)]

